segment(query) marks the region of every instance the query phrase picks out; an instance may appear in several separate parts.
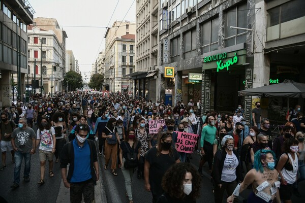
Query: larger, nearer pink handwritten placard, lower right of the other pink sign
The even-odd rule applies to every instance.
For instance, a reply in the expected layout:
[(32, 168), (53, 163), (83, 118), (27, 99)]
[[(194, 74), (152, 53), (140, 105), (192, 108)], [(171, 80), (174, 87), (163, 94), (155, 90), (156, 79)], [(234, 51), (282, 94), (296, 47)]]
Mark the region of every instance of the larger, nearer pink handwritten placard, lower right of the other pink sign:
[(178, 134), (176, 143), (177, 151), (192, 154), (198, 140), (198, 134), (178, 131), (176, 133)]

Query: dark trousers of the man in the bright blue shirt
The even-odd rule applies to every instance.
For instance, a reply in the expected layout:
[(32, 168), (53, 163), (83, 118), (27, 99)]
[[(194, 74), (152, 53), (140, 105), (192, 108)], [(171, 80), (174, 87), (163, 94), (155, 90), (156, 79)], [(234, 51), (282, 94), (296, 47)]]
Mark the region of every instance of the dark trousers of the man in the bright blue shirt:
[(70, 202), (80, 203), (82, 196), (84, 196), (85, 203), (94, 201), (94, 182), (92, 179), (80, 183), (71, 183)]

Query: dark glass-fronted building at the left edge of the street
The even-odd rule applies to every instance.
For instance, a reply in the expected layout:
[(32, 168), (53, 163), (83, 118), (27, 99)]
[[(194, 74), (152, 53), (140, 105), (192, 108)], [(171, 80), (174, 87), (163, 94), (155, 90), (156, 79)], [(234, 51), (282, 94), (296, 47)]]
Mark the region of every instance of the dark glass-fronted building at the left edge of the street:
[[(28, 74), (26, 25), (33, 23), (35, 11), (28, 2), (17, 0), (0, 1), (0, 7), (1, 107), (11, 106), (12, 98), (17, 100), (17, 89), (19, 98), (25, 92), (25, 74)], [(16, 78), (15, 88), (12, 88), (12, 77)]]

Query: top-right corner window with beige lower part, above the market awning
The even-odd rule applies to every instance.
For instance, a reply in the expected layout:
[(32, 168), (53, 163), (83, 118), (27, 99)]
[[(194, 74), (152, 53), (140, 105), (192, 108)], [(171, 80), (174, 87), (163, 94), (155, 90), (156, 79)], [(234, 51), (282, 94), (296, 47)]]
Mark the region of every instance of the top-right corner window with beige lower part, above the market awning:
[(305, 1), (294, 0), (268, 10), (267, 41), (305, 33)]

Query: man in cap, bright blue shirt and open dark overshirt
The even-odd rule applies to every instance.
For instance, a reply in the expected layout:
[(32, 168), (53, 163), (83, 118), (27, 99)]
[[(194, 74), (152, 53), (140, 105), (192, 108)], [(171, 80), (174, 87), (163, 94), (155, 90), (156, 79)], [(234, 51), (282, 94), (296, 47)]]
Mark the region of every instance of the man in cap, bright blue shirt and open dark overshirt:
[[(99, 164), (94, 141), (87, 140), (89, 126), (80, 124), (75, 128), (75, 139), (64, 146), (60, 153), (60, 167), (66, 188), (70, 188), (70, 201), (93, 202), (95, 185), (99, 180)], [(69, 171), (67, 175), (67, 165)]]

